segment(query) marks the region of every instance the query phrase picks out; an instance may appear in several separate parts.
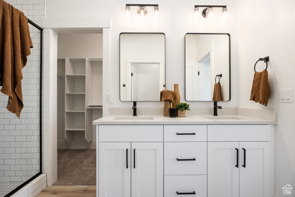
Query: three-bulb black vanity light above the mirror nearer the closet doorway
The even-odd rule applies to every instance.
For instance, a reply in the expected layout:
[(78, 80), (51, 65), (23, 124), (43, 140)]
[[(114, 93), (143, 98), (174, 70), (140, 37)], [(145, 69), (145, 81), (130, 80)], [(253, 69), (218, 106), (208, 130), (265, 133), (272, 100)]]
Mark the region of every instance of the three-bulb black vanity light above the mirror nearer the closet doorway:
[(146, 15), (148, 14), (146, 6), (152, 6), (152, 21), (159, 22), (160, 21), (160, 9), (158, 4), (126, 4), (125, 12), (124, 12), (124, 21), (131, 22), (132, 21), (132, 10), (130, 6), (138, 6), (137, 14), (138, 14), (138, 21), (145, 22)]

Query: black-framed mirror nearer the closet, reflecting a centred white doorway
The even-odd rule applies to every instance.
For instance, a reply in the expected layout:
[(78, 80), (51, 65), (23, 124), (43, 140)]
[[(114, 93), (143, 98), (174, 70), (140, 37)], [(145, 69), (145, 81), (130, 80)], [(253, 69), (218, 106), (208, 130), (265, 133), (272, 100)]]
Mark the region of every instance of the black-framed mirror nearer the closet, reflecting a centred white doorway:
[(120, 34), (120, 100), (159, 101), (165, 89), (165, 34)]

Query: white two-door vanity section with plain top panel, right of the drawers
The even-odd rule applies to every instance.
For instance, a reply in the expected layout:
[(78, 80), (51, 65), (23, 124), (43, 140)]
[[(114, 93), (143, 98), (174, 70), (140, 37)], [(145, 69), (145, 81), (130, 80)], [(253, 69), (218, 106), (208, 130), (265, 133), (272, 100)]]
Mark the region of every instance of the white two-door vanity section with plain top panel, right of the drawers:
[(271, 126), (208, 125), (208, 197), (271, 197)]

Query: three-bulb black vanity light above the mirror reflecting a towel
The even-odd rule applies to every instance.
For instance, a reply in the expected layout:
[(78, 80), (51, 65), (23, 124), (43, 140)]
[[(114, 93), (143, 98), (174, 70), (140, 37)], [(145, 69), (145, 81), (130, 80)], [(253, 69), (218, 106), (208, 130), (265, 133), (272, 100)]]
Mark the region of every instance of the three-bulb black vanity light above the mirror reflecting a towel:
[[(201, 11), (201, 7), (205, 7), (203, 11)], [(194, 17), (193, 22), (197, 23), (201, 21), (202, 17), (206, 18), (206, 22), (212, 23), (215, 21), (215, 9), (216, 7), (221, 7), (221, 23), (225, 23), (227, 19), (227, 6), (208, 6), (208, 5), (195, 5), (194, 8)]]

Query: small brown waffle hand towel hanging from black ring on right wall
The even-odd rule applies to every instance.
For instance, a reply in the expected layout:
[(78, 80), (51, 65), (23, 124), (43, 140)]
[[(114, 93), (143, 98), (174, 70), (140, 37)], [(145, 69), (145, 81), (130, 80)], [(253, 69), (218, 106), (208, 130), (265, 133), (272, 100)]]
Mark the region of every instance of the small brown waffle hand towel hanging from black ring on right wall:
[(271, 87), (268, 83), (268, 73), (266, 70), (255, 72), (251, 89), (250, 100), (259, 102), (267, 106), (268, 99), (271, 96)]

